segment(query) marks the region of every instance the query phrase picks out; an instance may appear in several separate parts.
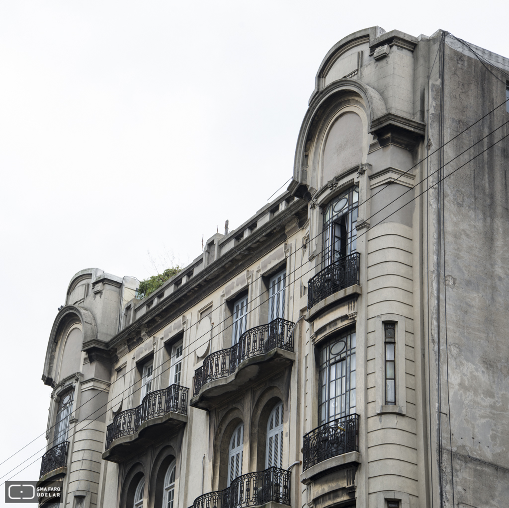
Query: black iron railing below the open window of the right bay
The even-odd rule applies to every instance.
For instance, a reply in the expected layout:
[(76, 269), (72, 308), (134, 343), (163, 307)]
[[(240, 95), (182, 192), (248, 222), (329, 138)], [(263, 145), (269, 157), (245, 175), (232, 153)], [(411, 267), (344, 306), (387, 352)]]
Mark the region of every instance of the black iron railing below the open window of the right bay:
[(307, 308), (312, 308), (327, 296), (354, 284), (359, 284), (358, 252), (338, 259), (309, 279)]

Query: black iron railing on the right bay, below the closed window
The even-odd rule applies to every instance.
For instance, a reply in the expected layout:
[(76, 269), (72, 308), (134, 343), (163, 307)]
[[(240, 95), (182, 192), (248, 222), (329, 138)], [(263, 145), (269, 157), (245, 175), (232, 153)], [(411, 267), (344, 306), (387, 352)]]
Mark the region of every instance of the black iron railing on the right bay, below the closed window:
[(358, 435), (358, 414), (344, 416), (308, 432), (302, 448), (302, 470), (337, 455), (358, 452)]

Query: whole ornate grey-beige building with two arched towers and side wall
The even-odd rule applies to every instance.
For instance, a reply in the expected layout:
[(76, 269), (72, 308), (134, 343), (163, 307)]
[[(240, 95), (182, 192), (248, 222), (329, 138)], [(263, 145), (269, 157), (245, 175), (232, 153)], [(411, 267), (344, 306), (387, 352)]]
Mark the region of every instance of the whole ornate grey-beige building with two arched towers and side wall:
[(142, 301), (78, 272), (43, 374), (65, 508), (509, 506), (507, 76), (351, 34), (287, 192)]

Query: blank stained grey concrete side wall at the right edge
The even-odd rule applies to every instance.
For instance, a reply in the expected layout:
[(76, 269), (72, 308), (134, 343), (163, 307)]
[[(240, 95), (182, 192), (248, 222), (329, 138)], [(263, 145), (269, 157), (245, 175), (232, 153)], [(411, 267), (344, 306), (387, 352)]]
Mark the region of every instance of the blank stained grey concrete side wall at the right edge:
[[(509, 61), (502, 57), (499, 60), (507, 73)], [(493, 74), (467, 48), (449, 36), (446, 38), (445, 142), (505, 100), (505, 76), (494, 68)], [(430, 118), (434, 147), (440, 142), (439, 98), (440, 81), (437, 81), (432, 88), (434, 104)], [(507, 119), (505, 105), (489, 113), (446, 145), (444, 161), (453, 159)], [(442, 484), (450, 505), (453, 480), (455, 502), (460, 506), (462, 502), (478, 508), (506, 506), (509, 497), (509, 138), (479, 155), (507, 134), (509, 128), (505, 125), (446, 165), (445, 175), (448, 175), (466, 164), (444, 180), (440, 248), (438, 196), (442, 189), (429, 193), (428, 252), (431, 256), (433, 250), (435, 256), (429, 279), (433, 294), (430, 301), (431, 396), (432, 402), (440, 403), (442, 432), (436, 431), (436, 435), (442, 441)], [(476, 155), (479, 156), (470, 161)], [(438, 167), (436, 155), (430, 159), (430, 172)], [(437, 254), (441, 266), (438, 279)], [(433, 433), (439, 424), (437, 413), (432, 411)], [(438, 457), (438, 447), (435, 451)], [(435, 471), (433, 483), (438, 485), (440, 478), (438, 470)]]

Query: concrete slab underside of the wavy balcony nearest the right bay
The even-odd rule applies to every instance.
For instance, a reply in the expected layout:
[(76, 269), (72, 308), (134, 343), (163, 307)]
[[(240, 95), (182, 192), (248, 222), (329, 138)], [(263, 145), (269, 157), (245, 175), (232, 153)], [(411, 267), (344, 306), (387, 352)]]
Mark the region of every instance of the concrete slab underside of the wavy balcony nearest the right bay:
[(284, 369), (294, 361), (295, 353), (293, 351), (278, 347), (267, 353), (246, 358), (237, 366), (233, 374), (205, 383), (198, 395), (191, 398), (189, 405), (209, 410), (230, 397), (232, 392), (242, 389), (255, 380), (271, 375), (275, 370)]

